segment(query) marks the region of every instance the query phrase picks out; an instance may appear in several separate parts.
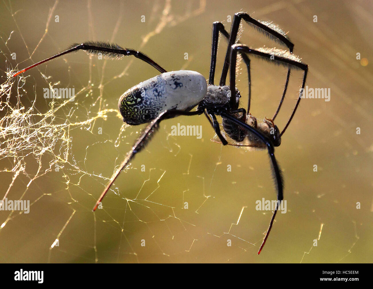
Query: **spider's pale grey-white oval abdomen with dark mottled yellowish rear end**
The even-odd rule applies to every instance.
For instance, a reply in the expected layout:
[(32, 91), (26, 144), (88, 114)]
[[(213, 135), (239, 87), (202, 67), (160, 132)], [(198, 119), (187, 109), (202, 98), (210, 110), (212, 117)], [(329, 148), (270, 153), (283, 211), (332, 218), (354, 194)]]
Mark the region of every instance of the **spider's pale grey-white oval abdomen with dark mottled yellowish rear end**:
[(189, 110), (206, 96), (204, 76), (195, 71), (164, 72), (130, 88), (119, 99), (123, 121), (143, 124), (170, 109)]

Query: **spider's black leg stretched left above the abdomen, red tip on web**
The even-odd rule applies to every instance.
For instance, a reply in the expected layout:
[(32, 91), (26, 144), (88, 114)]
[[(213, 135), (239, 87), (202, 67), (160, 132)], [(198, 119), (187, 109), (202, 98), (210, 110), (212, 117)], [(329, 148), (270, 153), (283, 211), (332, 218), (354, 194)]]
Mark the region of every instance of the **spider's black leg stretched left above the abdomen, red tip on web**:
[(59, 56), (65, 55), (70, 52), (74, 52), (77, 50), (84, 50), (89, 54), (98, 54), (102, 53), (103, 56), (107, 56), (109, 58), (119, 59), (122, 56), (129, 56), (133, 55), (136, 58), (139, 58), (141, 60), (144, 60), (146, 63), (150, 64), (154, 68), (156, 68), (160, 72), (166, 72), (164, 68), (162, 68), (158, 63), (156, 63), (154, 60), (150, 59), (148, 56), (146, 56), (144, 53), (133, 50), (133, 49), (124, 49), (116, 44), (109, 44), (109, 43), (101, 43), (101, 42), (86, 42), (82, 44), (73, 44), (68, 50), (65, 50), (63, 52), (57, 53), (54, 56), (51, 56), (50, 58), (41, 60), (31, 66), (26, 67), (25, 69), (22, 69), (21, 71), (18, 71), (16, 74), (13, 74), (13, 77), (27, 71), (30, 68), (33, 68), (41, 63), (47, 62), (49, 60), (52, 60), (54, 58), (57, 58)]

